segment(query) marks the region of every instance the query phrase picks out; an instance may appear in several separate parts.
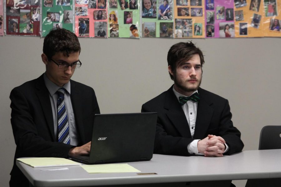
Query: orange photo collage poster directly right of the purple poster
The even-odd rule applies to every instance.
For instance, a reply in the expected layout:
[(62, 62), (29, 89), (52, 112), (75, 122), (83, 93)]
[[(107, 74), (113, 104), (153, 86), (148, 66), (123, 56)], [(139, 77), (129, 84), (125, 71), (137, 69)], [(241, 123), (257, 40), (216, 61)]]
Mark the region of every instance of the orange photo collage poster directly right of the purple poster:
[(235, 37), (264, 36), (263, 0), (234, 0)]

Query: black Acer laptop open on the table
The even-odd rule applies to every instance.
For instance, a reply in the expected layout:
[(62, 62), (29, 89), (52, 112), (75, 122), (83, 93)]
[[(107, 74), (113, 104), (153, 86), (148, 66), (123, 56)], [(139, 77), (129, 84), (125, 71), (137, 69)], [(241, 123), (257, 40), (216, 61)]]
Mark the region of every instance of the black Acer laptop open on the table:
[(84, 164), (149, 161), (153, 155), (157, 113), (96, 114), (89, 156)]

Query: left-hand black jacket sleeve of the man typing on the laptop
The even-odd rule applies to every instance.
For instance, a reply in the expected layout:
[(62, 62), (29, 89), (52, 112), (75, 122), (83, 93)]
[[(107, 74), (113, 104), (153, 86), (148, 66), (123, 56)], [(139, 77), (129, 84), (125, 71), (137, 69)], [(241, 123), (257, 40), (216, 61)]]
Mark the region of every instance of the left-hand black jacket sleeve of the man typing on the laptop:
[[(34, 122), (32, 113), (36, 108), (31, 107), (31, 103), (25, 95), (17, 88), (10, 94), (11, 99), (11, 124), (17, 145), (16, 157), (63, 157), (68, 156), (71, 145), (61, 142), (52, 142), (48, 137), (49, 129), (46, 132), (38, 133), (38, 127), (46, 126)], [(44, 123), (42, 116), (42, 123)], [(45, 134), (46, 133), (46, 134)]]

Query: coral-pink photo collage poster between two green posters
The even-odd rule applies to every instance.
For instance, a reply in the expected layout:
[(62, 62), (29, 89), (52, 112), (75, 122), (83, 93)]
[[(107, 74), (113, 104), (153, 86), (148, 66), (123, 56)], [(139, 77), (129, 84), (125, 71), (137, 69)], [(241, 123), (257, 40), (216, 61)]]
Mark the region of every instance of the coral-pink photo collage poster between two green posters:
[(75, 0), (75, 34), (107, 38), (107, 0)]

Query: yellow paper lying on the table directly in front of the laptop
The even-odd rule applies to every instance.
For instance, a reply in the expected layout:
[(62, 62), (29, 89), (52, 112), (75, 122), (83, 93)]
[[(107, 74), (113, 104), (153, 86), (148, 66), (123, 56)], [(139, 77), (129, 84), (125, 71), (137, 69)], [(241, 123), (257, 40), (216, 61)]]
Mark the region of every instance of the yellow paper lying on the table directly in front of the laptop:
[(88, 173), (124, 173), (124, 172), (141, 172), (129, 164), (98, 164), (98, 165), (81, 165)]

